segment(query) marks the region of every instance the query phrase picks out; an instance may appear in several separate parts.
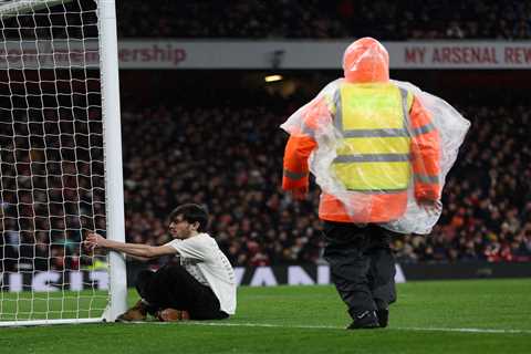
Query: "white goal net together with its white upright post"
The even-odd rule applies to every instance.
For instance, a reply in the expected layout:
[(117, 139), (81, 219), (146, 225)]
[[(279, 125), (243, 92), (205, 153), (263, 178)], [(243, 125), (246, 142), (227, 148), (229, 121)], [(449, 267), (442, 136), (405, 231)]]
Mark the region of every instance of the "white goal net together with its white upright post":
[(0, 325), (114, 320), (123, 259), (82, 244), (124, 238), (114, 0), (0, 1)]

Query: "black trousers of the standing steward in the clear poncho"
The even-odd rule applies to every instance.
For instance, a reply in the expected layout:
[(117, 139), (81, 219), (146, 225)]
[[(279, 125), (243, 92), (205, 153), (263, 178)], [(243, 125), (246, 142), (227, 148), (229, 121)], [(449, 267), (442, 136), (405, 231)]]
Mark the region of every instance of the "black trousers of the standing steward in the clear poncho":
[(352, 317), (396, 301), (395, 260), (389, 248), (398, 235), (376, 225), (324, 221), (324, 258), (332, 282)]

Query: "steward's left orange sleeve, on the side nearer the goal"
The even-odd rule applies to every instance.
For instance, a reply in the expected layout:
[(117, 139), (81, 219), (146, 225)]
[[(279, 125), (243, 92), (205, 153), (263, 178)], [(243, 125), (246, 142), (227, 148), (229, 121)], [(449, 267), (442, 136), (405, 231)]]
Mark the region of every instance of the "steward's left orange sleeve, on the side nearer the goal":
[(290, 136), (284, 150), (282, 189), (308, 191), (308, 159), (317, 146), (315, 131), (323, 121), (331, 118), (329, 108), (326, 100), (316, 100), (304, 114), (301, 132)]

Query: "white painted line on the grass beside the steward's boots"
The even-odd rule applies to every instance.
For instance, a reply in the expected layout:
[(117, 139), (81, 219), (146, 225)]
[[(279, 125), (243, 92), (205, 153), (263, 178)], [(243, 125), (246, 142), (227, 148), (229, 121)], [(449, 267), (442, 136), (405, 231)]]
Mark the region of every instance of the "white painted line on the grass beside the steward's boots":
[[(169, 323), (169, 322), (155, 322)], [(210, 325), (210, 326), (240, 326), (240, 327), (271, 327), (271, 329), (302, 329), (302, 330), (345, 330), (345, 327), (333, 325), (283, 325), (272, 323), (230, 323), (230, 322), (183, 322), (187, 325)], [(433, 332), (461, 332), (461, 333), (499, 333), (499, 334), (531, 334), (529, 330), (496, 330), (496, 329), (446, 329), (446, 327), (389, 327), (398, 331), (433, 331)]]

